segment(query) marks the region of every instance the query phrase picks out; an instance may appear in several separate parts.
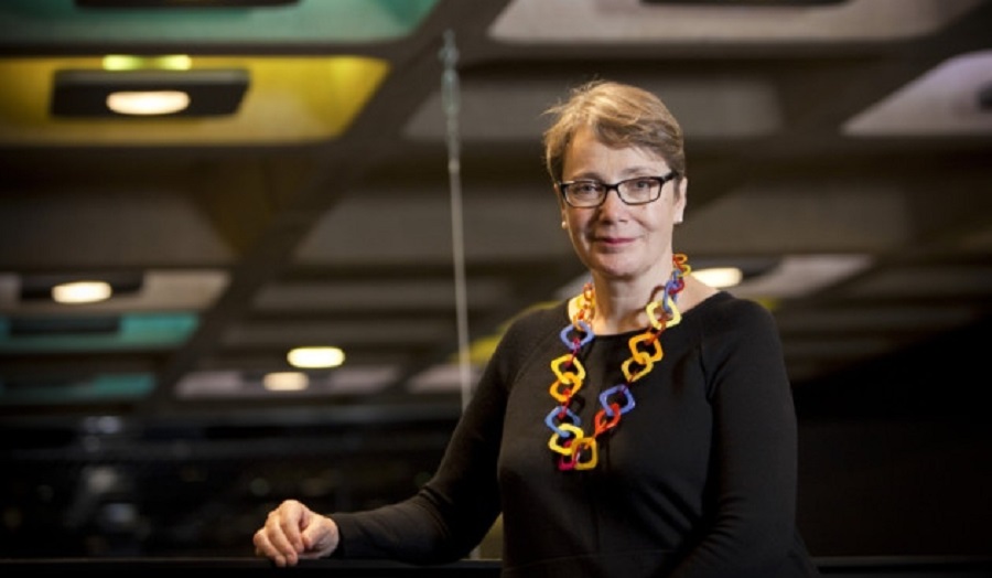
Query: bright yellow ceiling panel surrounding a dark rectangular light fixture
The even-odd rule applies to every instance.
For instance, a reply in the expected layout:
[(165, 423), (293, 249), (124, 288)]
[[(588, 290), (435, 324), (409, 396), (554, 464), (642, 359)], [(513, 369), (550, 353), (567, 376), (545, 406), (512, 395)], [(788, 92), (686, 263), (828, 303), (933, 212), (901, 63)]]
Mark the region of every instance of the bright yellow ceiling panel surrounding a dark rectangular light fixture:
[(299, 144), (335, 139), (389, 73), (366, 56), (195, 56), (192, 71), (245, 69), (251, 79), (236, 115), (207, 118), (55, 119), (47, 103), (60, 69), (101, 69), (100, 57), (0, 60), (0, 144)]

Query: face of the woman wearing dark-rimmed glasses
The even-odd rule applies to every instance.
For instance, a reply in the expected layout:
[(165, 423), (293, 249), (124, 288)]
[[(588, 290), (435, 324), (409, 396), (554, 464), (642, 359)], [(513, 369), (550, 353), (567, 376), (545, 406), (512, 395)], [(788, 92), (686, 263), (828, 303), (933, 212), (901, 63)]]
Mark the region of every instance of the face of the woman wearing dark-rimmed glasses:
[[(662, 176), (665, 159), (641, 149), (612, 149), (580, 129), (564, 156), (562, 181), (590, 179), (613, 184), (635, 176)], [(676, 186), (682, 194), (676, 194)], [(686, 179), (666, 182), (661, 196), (643, 205), (621, 201), (616, 190), (602, 205), (575, 208), (559, 195), (561, 217), (585, 266), (611, 280), (664, 281), (671, 269), (671, 237), (686, 207)]]

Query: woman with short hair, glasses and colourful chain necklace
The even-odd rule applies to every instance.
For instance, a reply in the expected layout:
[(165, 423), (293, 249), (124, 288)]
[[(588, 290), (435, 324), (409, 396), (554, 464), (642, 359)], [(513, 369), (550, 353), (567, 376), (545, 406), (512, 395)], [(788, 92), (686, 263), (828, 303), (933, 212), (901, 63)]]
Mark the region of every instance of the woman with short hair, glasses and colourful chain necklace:
[(506, 577), (799, 577), (796, 419), (772, 315), (672, 248), (688, 180), (653, 94), (549, 110), (546, 162), (591, 282), (508, 329), (434, 478), (360, 513), (287, 501), (255, 535), (300, 558), (464, 557), (503, 514)]

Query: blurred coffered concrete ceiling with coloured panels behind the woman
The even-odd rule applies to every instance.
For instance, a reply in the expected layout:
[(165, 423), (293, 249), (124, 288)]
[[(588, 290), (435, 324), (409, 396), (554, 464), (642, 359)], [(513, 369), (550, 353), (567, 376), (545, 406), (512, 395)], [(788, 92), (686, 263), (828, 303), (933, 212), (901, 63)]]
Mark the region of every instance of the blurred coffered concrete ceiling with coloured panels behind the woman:
[[(541, 111), (595, 77), (681, 120), (676, 248), (744, 269), (797, 392), (988, 325), (992, 2), (100, 3), (0, 3), (9, 426), (448, 427), (505, 324), (583, 281)], [(228, 114), (54, 106), (107, 55), (247, 89)], [(53, 303), (72, 278), (121, 291)], [(262, 387), (298, 345), (345, 364)]]

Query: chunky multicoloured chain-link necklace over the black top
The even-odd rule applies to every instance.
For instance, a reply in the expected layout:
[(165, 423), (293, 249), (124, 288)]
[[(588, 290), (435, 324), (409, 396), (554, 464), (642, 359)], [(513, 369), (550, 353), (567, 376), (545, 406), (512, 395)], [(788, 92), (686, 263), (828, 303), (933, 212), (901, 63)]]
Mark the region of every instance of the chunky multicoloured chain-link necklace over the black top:
[[(661, 361), (665, 355), (658, 338), (666, 328), (677, 325), (682, 320), (676, 307), (676, 299), (686, 286), (683, 277), (691, 270), (683, 254), (675, 254), (671, 261), (671, 278), (665, 283), (661, 299), (651, 301), (645, 308), (650, 324), (644, 333), (632, 336), (627, 342), (630, 356), (621, 364), (626, 382), (600, 394), (601, 409), (593, 417), (594, 428), (591, 435), (582, 430), (582, 419), (570, 407), (572, 397), (582, 388), (585, 379), (585, 367), (579, 360), (579, 351), (595, 338), (590, 325), (595, 307), (595, 292), (592, 283), (585, 283), (582, 289), (579, 311), (559, 334), (569, 353), (551, 361), (551, 371), (554, 372), (557, 379), (551, 384), (549, 392), (559, 405), (548, 414), (544, 424), (553, 431), (551, 439), (548, 440), (548, 447), (561, 454), (558, 461), (559, 470), (591, 470), (596, 467), (597, 438), (614, 429), (619, 425), (622, 416), (634, 409), (630, 385), (650, 373), (655, 363)], [(662, 310), (660, 318), (658, 308)]]

